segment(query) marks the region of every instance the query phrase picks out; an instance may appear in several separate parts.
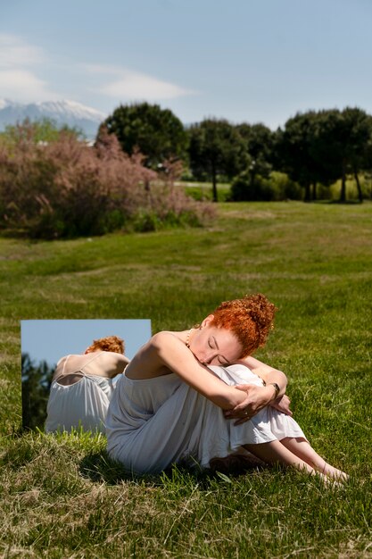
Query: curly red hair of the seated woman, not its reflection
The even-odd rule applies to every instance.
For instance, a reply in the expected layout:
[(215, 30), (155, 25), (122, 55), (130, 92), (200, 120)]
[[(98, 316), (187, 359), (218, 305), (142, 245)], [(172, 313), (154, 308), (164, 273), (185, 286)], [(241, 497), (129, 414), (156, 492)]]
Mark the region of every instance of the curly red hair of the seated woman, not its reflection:
[(221, 303), (212, 313), (211, 326), (233, 332), (243, 347), (243, 358), (265, 345), (276, 312), (277, 307), (261, 293), (246, 295)]

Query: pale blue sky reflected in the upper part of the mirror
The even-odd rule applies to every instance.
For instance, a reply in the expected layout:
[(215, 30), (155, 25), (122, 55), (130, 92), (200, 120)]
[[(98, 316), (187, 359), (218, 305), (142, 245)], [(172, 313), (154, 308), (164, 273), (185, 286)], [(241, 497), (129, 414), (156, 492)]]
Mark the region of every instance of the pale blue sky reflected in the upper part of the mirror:
[(54, 365), (63, 355), (83, 354), (94, 339), (119, 336), (131, 359), (151, 335), (149, 319), (21, 321), (21, 351)]

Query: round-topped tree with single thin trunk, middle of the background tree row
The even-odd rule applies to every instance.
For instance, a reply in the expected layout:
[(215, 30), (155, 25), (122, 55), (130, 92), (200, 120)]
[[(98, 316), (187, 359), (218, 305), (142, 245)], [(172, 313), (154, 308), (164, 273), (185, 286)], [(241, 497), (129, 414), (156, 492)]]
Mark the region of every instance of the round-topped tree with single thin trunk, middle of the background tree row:
[(250, 162), (244, 139), (225, 120), (205, 119), (188, 130), (190, 168), (196, 179), (212, 182), (213, 201), (218, 201), (217, 177), (232, 179)]

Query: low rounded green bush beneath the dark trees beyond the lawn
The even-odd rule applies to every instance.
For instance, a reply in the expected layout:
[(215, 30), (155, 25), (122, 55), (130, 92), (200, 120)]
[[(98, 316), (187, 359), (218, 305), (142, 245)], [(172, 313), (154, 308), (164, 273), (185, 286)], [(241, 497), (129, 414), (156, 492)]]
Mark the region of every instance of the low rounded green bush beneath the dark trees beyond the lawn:
[(283, 173), (271, 171), (269, 178), (260, 175), (252, 183), (250, 171), (244, 171), (231, 184), (231, 200), (274, 202), (279, 200), (302, 200), (302, 188)]

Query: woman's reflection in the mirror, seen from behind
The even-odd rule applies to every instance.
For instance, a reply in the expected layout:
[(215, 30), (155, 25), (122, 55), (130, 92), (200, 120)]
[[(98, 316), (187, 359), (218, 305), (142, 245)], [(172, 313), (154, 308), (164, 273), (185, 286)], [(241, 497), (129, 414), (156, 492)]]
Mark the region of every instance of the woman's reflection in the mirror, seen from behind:
[(57, 363), (46, 408), (45, 432), (80, 428), (105, 432), (113, 379), (128, 364), (124, 340), (99, 338), (83, 355), (65, 355)]

